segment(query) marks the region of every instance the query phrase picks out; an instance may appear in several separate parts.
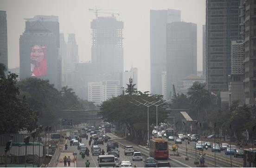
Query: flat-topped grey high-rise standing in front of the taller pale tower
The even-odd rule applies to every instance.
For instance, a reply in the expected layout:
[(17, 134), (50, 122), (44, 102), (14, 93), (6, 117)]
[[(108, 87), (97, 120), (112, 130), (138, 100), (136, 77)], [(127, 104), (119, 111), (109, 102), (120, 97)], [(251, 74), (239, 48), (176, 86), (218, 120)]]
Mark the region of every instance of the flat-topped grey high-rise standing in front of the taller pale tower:
[(197, 74), (197, 25), (186, 22), (167, 24), (166, 31), (167, 96), (178, 82)]

